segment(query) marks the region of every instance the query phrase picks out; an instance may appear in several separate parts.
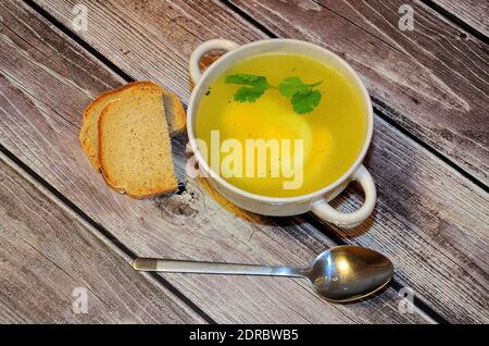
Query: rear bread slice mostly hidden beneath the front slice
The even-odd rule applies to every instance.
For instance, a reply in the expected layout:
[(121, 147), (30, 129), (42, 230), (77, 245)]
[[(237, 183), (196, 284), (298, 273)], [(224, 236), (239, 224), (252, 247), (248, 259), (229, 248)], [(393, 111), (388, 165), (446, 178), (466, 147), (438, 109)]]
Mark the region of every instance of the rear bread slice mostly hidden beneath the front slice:
[[(133, 86), (153, 84), (151, 82), (134, 82), (125, 86), (109, 90), (97, 97), (84, 112), (84, 121), (79, 133), (82, 148), (96, 170), (100, 170), (99, 163), (99, 118), (102, 110), (109, 102), (117, 100), (121, 91)], [(154, 84), (155, 85), (155, 84)], [(156, 85), (155, 85), (156, 86)], [(170, 135), (177, 135), (185, 129), (186, 115), (180, 99), (173, 92), (163, 91), (163, 102), (165, 104), (165, 116), (168, 124)]]

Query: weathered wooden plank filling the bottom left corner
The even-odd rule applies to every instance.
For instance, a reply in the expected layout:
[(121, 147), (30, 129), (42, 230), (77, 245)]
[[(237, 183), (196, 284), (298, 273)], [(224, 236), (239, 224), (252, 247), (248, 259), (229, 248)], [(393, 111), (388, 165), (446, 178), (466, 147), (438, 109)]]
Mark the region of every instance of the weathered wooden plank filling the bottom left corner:
[(202, 323), (24, 174), (0, 153), (0, 323)]

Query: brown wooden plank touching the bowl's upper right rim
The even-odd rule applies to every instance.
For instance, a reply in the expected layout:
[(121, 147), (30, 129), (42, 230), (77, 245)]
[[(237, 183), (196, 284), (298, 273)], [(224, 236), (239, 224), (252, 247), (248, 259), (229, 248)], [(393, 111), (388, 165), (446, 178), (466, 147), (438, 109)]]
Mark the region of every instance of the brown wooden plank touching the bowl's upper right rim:
[[(378, 111), (489, 185), (489, 46), (418, 1), (231, 2), (277, 36), (340, 54)], [(403, 4), (413, 32), (398, 27)]]

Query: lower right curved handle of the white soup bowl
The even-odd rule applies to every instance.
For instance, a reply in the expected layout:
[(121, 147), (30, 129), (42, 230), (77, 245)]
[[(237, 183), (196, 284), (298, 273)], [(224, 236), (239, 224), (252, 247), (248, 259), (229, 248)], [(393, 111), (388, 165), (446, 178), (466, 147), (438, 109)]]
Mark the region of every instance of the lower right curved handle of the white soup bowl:
[(322, 199), (316, 201), (311, 211), (319, 219), (333, 222), (340, 226), (352, 226), (366, 220), (374, 211), (375, 202), (377, 200), (377, 191), (374, 180), (371, 173), (362, 164), (352, 176), (352, 181), (359, 182), (365, 194), (365, 201), (363, 206), (353, 212), (341, 212), (329, 206), (329, 203)]

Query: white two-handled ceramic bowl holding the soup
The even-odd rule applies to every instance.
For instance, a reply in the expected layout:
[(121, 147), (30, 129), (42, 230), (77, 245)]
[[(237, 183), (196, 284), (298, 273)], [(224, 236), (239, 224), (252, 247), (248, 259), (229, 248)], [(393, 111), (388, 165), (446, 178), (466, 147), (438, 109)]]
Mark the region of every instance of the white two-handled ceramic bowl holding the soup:
[[(228, 52), (214, 62), (205, 71), (205, 73), (202, 74), (199, 69), (199, 61), (206, 52), (214, 49), (224, 49)], [(242, 190), (213, 173), (197, 146), (197, 109), (199, 107), (200, 99), (206, 92), (209, 85), (236, 62), (263, 53), (291, 53), (308, 55), (343, 73), (362, 91), (363, 102), (366, 109), (365, 116), (367, 121), (367, 134), (365, 136), (363, 148), (359, 153), (356, 161), (340, 178), (312, 194), (291, 198), (275, 198)], [(312, 211), (324, 221), (343, 226), (358, 224), (368, 218), (374, 210), (377, 195), (374, 181), (362, 162), (371, 144), (374, 129), (373, 108), (364, 84), (344, 60), (325, 48), (293, 39), (267, 39), (244, 46), (240, 46), (229, 40), (213, 39), (203, 42), (193, 51), (190, 57), (190, 76), (196, 84), (187, 112), (187, 131), (190, 146), (199, 163), (199, 169), (210, 180), (215, 189), (226, 199), (246, 210), (264, 215), (287, 217)], [(328, 202), (338, 196), (352, 181), (359, 182), (365, 193), (365, 201), (363, 206), (359, 210), (351, 213), (340, 212), (329, 206)]]

